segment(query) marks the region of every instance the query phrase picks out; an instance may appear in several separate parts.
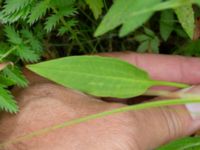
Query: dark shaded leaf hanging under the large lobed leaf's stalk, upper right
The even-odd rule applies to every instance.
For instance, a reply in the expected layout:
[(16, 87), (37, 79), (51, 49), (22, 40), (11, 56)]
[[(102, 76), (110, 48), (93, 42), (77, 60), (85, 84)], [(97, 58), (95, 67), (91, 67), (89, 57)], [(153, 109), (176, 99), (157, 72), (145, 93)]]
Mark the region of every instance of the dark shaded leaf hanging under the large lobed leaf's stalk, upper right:
[(167, 41), (174, 29), (174, 20), (174, 13), (172, 10), (165, 10), (161, 12), (160, 35), (164, 39), (164, 41)]

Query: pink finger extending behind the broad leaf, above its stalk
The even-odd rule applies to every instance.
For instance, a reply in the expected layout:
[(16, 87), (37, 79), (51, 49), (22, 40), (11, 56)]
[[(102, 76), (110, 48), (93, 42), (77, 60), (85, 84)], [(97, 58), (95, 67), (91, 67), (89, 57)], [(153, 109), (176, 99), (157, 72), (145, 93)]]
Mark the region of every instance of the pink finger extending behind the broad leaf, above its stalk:
[(146, 70), (153, 79), (187, 84), (200, 83), (200, 59), (133, 52), (102, 53), (117, 57)]

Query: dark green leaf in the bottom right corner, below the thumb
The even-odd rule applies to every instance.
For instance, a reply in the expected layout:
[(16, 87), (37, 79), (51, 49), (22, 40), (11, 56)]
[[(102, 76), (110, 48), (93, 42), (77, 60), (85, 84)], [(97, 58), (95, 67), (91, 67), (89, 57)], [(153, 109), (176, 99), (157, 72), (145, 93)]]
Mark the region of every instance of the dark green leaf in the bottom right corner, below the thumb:
[(199, 150), (200, 137), (187, 137), (171, 142), (157, 150)]

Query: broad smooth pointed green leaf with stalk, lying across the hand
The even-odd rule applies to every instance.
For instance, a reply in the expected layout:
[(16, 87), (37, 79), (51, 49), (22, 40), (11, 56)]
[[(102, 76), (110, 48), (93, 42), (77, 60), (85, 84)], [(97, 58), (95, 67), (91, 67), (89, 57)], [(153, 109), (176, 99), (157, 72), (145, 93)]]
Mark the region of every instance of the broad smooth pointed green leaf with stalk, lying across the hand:
[(127, 62), (99, 56), (66, 57), (27, 67), (61, 85), (101, 97), (128, 98), (143, 94), (153, 85), (174, 84), (153, 81)]

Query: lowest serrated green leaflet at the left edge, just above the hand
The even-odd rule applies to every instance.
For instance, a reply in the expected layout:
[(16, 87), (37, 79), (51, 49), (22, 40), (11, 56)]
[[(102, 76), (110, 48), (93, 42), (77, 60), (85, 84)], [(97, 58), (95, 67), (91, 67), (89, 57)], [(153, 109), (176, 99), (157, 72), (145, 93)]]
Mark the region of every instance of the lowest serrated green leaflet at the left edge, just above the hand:
[(0, 86), (0, 108), (10, 113), (16, 113), (18, 106), (11, 93)]

